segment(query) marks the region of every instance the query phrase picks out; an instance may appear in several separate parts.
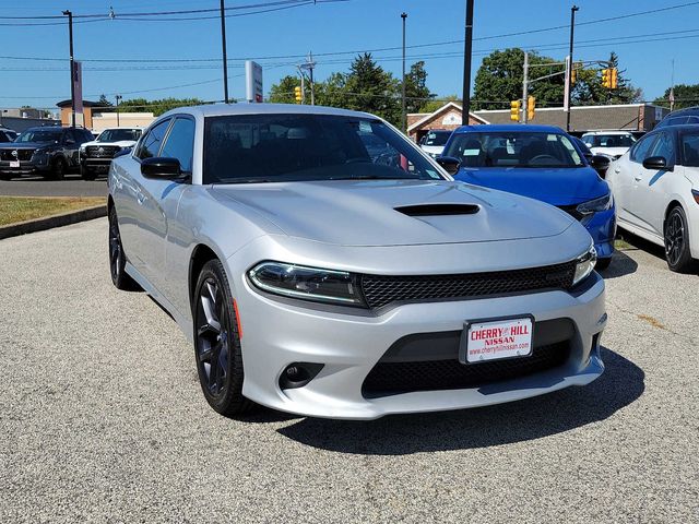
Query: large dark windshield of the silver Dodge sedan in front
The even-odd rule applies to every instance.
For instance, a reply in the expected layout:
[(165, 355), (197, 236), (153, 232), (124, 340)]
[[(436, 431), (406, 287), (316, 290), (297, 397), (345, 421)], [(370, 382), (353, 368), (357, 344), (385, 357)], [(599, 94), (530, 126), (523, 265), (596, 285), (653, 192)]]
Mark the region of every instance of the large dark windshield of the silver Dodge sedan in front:
[(204, 183), (441, 179), (380, 120), (332, 115), (236, 115), (204, 124)]

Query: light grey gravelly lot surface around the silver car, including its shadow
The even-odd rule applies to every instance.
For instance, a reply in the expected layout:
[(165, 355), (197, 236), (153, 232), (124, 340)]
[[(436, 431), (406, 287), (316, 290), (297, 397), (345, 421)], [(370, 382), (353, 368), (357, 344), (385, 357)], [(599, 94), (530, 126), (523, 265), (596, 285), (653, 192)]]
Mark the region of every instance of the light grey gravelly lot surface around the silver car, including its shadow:
[(0, 522), (699, 520), (699, 277), (654, 252), (605, 272), (607, 369), (587, 388), (233, 420), (175, 323), (111, 286), (106, 237), (98, 219), (0, 241)]

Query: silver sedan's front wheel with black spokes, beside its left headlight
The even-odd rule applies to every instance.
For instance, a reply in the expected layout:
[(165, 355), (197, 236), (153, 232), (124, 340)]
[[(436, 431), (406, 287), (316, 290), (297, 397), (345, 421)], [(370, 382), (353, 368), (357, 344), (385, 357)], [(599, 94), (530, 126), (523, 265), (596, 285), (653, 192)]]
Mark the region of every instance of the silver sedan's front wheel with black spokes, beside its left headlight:
[(209, 405), (226, 416), (241, 415), (252, 403), (242, 396), (242, 350), (230, 286), (223, 264), (202, 267), (194, 290), (194, 358)]

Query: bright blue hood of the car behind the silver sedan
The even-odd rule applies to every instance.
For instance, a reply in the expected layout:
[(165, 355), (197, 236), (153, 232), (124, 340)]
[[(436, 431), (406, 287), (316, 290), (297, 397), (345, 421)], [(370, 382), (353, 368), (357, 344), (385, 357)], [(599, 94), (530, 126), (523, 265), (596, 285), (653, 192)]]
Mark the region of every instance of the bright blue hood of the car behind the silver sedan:
[(573, 205), (608, 192), (591, 167), (460, 169), (458, 180), (541, 200), (552, 205)]

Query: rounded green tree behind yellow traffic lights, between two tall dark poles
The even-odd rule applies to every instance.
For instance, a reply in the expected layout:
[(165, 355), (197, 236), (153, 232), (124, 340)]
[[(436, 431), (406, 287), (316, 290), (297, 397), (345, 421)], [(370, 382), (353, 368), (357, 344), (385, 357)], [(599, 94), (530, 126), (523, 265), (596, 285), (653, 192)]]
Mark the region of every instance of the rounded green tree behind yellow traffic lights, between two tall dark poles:
[[(529, 53), (530, 80), (562, 72), (564, 67), (550, 57), (535, 51)], [(473, 109), (497, 109), (509, 107), (510, 100), (522, 97), (524, 82), (524, 51), (510, 48), (494, 51), (483, 59), (475, 78)], [(564, 99), (564, 75), (555, 75), (530, 84), (530, 95), (536, 106), (560, 105)]]

